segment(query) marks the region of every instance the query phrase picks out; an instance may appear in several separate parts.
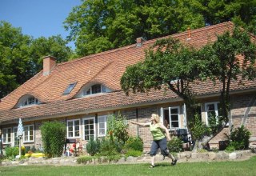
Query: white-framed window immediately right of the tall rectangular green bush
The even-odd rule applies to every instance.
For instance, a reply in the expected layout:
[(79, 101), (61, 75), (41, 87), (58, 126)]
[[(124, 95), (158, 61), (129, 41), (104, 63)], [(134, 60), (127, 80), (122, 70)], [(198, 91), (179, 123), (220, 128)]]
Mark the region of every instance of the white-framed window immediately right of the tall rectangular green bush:
[(67, 126), (67, 138), (79, 138), (80, 137), (80, 120), (68, 120)]

